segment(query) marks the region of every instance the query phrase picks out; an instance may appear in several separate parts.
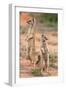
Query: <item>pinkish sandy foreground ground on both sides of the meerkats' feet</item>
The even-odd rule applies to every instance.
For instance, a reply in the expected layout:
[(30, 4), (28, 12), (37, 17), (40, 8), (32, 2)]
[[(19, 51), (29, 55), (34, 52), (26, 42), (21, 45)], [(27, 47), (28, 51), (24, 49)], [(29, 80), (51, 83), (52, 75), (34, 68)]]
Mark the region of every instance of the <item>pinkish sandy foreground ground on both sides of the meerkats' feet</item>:
[[(27, 78), (27, 77), (33, 77), (31, 70), (34, 68), (33, 64), (30, 62), (30, 60), (23, 59), (20, 61), (20, 77)], [(43, 76), (57, 76), (58, 71), (56, 68), (49, 67), (48, 72), (43, 72)]]

